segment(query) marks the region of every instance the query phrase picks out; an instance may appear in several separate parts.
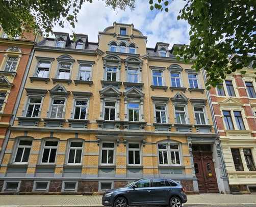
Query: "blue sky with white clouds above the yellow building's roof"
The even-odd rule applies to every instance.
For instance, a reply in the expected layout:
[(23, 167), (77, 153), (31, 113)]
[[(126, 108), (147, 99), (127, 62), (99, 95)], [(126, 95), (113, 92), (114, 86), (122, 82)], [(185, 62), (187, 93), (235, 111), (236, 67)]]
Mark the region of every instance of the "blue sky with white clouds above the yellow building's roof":
[[(78, 23), (74, 32), (88, 35), (89, 42), (98, 41), (98, 32), (103, 32), (113, 22), (133, 23), (134, 28), (139, 29), (147, 36), (147, 47), (155, 47), (157, 42), (169, 43), (169, 49), (173, 44), (189, 43), (189, 24), (184, 20), (177, 20), (177, 15), (184, 7), (183, 0), (170, 0), (169, 12), (150, 11), (147, 0), (136, 0), (134, 11), (126, 8), (125, 11), (113, 10), (106, 7), (104, 1), (94, 0), (93, 3), (85, 3), (80, 10)], [(71, 26), (66, 24), (64, 28), (54, 27), (55, 32), (72, 34)]]

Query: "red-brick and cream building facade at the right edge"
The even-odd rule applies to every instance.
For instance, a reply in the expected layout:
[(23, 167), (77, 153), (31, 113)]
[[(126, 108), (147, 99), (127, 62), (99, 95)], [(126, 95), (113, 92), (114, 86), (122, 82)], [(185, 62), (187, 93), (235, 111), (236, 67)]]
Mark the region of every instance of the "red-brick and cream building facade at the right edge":
[(210, 90), (232, 193), (256, 192), (256, 95), (251, 67)]

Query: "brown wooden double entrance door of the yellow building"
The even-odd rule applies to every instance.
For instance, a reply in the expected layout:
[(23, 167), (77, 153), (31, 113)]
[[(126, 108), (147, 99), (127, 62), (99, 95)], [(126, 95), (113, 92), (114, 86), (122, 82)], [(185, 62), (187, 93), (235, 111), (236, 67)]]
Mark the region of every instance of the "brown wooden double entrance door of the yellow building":
[(193, 152), (195, 174), (200, 193), (218, 193), (212, 152)]

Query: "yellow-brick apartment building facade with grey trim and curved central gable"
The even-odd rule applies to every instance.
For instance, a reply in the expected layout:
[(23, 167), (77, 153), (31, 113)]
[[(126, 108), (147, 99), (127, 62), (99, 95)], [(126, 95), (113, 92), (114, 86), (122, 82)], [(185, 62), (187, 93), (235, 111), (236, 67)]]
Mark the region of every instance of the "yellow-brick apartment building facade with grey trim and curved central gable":
[[(141, 177), (228, 192), (202, 72), (133, 24), (35, 46), (0, 168), (2, 193), (89, 193)], [(174, 45), (173, 47), (178, 46)]]

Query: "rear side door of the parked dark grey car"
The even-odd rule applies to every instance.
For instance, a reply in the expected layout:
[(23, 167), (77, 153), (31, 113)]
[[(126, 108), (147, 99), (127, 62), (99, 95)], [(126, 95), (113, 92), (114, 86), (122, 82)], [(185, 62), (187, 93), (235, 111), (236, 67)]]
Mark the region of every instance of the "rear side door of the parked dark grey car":
[(153, 204), (168, 204), (170, 187), (165, 185), (165, 179), (151, 180)]

